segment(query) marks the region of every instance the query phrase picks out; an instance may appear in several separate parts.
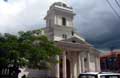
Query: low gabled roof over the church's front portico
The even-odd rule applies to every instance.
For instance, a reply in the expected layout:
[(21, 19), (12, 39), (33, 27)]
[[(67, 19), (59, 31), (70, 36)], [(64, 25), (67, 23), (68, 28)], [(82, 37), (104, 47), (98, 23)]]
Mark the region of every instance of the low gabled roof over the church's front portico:
[[(72, 39), (72, 38), (70, 38)], [(62, 40), (62, 41), (57, 41), (56, 45), (59, 46), (62, 49), (70, 50), (70, 51), (75, 51), (75, 52), (88, 52), (90, 51), (91, 53), (94, 53), (96, 55), (99, 55), (100, 52), (96, 50), (94, 47), (91, 45), (87, 44), (86, 42), (83, 42), (80, 39), (77, 39), (76, 42), (72, 42), (70, 39)], [(73, 39), (76, 39), (73, 37)]]

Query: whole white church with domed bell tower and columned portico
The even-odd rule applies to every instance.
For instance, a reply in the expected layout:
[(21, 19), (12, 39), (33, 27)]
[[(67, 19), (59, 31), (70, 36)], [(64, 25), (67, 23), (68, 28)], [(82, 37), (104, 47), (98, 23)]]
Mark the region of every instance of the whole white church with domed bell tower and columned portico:
[(100, 53), (74, 30), (74, 16), (73, 8), (62, 2), (47, 11), (42, 34), (64, 50), (56, 56), (59, 63), (49, 71), (51, 78), (77, 78), (81, 72), (100, 71)]

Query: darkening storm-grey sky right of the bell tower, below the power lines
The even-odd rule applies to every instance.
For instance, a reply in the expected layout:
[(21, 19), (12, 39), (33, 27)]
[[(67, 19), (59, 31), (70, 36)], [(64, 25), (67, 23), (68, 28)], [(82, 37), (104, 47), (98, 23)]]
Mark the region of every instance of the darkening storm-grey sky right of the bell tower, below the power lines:
[(73, 5), (76, 28), (88, 42), (102, 49), (120, 48), (120, 18), (105, 0), (84, 0)]

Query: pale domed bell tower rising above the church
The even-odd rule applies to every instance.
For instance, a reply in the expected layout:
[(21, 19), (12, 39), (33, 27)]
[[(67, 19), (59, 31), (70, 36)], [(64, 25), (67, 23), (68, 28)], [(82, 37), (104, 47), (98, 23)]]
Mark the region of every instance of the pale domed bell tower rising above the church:
[(64, 3), (56, 2), (52, 4), (45, 17), (49, 39), (60, 41), (73, 36), (74, 15), (72, 7)]

